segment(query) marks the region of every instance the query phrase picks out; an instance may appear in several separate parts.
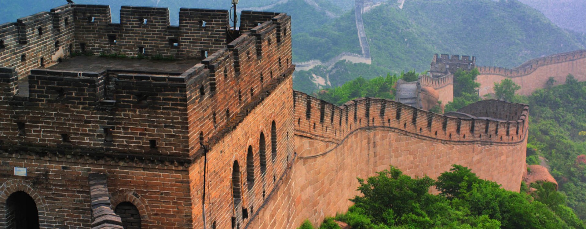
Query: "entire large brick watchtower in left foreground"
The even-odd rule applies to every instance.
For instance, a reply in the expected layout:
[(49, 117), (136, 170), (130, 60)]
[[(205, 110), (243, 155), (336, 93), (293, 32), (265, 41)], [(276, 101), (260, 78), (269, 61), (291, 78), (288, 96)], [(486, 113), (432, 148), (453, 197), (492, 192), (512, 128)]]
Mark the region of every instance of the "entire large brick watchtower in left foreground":
[[(292, 108), (290, 26), (285, 13), (245, 11), (240, 37), (229, 39), (225, 10), (182, 8), (171, 26), (166, 8), (122, 6), (112, 23), (105, 5), (64, 5), (0, 25), (0, 228), (242, 224), (253, 213), (242, 209), (261, 200), (234, 183), (219, 198), (238, 203), (237, 213), (206, 218), (214, 208), (200, 213), (200, 200), (218, 196), (199, 175), (216, 182), (209, 171), (234, 163), (244, 174), (247, 147), (212, 156), (202, 146), (217, 148), (257, 115), (264, 176), (282, 172), (292, 127), (270, 113)], [(275, 90), (290, 102), (264, 108)]]

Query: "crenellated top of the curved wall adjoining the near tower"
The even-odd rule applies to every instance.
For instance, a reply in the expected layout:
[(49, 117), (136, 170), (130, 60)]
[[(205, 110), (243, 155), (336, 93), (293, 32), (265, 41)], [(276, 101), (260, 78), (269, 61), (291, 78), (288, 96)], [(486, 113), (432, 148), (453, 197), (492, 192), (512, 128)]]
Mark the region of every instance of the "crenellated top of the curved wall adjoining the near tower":
[[(435, 114), (391, 100), (360, 98), (336, 107), (294, 92), (295, 131), (321, 141), (340, 142), (358, 129), (382, 128), (415, 138), (452, 143), (519, 143), (526, 138), (528, 107), (486, 100), (456, 117)], [(475, 116), (478, 115), (478, 116)]]

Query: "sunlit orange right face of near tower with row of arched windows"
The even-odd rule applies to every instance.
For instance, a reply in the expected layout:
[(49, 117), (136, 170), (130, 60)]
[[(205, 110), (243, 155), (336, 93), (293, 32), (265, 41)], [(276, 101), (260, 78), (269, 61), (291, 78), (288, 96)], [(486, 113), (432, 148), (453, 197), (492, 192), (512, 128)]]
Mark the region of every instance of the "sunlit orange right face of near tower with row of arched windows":
[[(209, 71), (204, 76), (216, 87), (210, 83), (205, 95), (188, 101), (194, 228), (203, 224), (212, 228), (214, 223), (217, 228), (229, 228), (232, 220), (234, 228), (246, 224), (268, 199), (292, 152), (291, 76), (295, 66), (291, 64), (291, 33), (286, 32), (291, 18), (284, 13), (268, 21), (263, 12), (243, 15), (242, 25), (254, 26), (250, 32), (202, 61), (203, 73)], [(263, 23), (258, 25), (258, 21)], [(210, 122), (214, 114), (216, 122)], [(200, 147), (200, 142), (210, 151)], [(231, 189), (234, 162), (240, 170), (239, 201), (234, 200)], [(255, 177), (250, 188), (248, 171)]]

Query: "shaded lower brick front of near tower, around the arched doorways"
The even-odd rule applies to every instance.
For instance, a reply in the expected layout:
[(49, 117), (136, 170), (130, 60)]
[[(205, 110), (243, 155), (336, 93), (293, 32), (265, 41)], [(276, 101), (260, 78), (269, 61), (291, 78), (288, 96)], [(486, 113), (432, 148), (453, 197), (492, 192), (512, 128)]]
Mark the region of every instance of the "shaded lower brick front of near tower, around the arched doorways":
[[(4, 146), (0, 160), (0, 209), (5, 209), (10, 193), (23, 190), (38, 200), (41, 228), (90, 228), (90, 173), (107, 174), (113, 199), (129, 192), (135, 201), (148, 203), (149, 214), (141, 215), (142, 228), (191, 227), (189, 164)], [(28, 176), (13, 176), (14, 167), (27, 168)], [(2, 227), (5, 214), (0, 215)]]

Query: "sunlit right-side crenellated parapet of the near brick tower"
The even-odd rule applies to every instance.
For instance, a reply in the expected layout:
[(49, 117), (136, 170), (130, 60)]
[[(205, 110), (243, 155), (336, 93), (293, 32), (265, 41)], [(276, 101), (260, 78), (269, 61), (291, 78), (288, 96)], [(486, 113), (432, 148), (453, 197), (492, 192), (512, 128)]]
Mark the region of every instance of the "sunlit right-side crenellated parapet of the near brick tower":
[(195, 82), (188, 87), (193, 158), (203, 153), (198, 139), (213, 146), (294, 70), (291, 35), (285, 32), (291, 17), (281, 13), (258, 25), (267, 13), (243, 15), (243, 25), (257, 26), (203, 60), (189, 80)]

